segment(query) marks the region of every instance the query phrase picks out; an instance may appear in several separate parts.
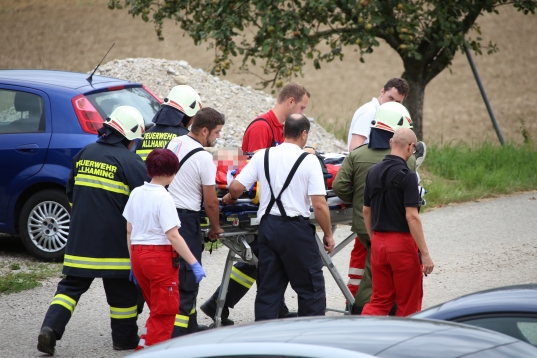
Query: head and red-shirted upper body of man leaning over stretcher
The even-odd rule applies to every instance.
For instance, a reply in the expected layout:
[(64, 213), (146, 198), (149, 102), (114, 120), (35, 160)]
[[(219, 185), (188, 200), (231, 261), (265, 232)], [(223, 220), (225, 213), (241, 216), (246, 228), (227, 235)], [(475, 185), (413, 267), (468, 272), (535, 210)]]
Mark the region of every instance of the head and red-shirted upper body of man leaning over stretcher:
[(290, 82), (278, 94), (278, 102), (267, 113), (254, 119), (244, 132), (243, 152), (275, 147), (283, 143), (283, 123), (291, 114), (304, 114), (310, 93), (304, 86)]

